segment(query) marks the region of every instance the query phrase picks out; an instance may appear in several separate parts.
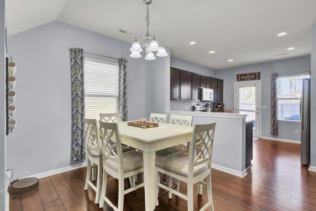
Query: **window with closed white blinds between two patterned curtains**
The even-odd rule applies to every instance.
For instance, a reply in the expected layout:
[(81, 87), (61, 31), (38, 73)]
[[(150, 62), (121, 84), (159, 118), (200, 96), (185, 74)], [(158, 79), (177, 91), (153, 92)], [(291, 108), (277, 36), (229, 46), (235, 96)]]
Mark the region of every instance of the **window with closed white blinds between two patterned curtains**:
[(85, 58), (85, 117), (99, 119), (100, 113), (118, 111), (118, 64)]

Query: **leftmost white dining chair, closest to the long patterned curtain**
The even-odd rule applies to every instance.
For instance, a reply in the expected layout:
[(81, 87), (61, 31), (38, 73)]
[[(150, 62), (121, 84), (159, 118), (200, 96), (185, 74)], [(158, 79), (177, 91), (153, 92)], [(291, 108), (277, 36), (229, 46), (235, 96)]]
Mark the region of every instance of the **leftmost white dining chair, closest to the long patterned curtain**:
[[(95, 193), (95, 204), (99, 203), (101, 182), (102, 182), (102, 153), (101, 153), (101, 142), (98, 122), (95, 119), (84, 120), (84, 131), (87, 143), (87, 172), (84, 184), (84, 190), (88, 189), (88, 185), (96, 192)], [(91, 167), (97, 168), (97, 182), (94, 185), (90, 181)], [(92, 175), (93, 180), (93, 175)]]

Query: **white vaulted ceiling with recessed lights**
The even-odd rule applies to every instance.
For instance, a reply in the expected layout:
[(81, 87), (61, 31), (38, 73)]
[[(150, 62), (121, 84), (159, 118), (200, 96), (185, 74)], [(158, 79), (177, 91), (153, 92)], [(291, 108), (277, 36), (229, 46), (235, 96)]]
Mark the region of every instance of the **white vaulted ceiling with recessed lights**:
[[(8, 36), (55, 20), (130, 43), (146, 33), (143, 0), (5, 3)], [(149, 13), (150, 33), (172, 57), (220, 70), (309, 55), (316, 0), (153, 0)]]

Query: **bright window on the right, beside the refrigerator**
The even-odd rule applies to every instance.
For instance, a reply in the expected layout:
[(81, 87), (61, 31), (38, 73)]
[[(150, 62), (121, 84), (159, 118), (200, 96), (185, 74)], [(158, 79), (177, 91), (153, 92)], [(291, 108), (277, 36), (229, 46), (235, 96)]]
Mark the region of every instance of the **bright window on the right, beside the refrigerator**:
[(302, 79), (310, 78), (310, 75), (278, 76), (277, 97), (277, 119), (297, 120), (300, 117), (300, 101), (302, 96)]

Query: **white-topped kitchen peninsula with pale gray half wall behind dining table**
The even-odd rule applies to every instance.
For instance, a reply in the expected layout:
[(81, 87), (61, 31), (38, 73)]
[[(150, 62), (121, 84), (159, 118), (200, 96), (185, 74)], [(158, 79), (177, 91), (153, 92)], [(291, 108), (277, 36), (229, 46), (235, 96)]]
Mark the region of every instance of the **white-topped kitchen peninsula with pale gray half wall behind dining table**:
[[(246, 151), (247, 115), (223, 112), (165, 111), (165, 114), (194, 116), (193, 125), (216, 123), (212, 152), (212, 168), (243, 177), (247, 174), (246, 157), (252, 158)], [(248, 127), (252, 129), (252, 127)], [(249, 129), (248, 129), (249, 130)], [(250, 131), (247, 133), (249, 134)], [(249, 139), (249, 136), (248, 136)], [(248, 140), (249, 141), (249, 140)], [(252, 146), (252, 131), (251, 131)], [(247, 147), (248, 148), (248, 147)], [(247, 156), (246, 156), (247, 154)], [(249, 159), (248, 159), (249, 160)]]

